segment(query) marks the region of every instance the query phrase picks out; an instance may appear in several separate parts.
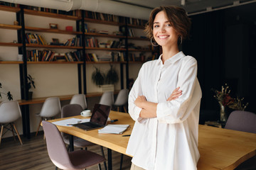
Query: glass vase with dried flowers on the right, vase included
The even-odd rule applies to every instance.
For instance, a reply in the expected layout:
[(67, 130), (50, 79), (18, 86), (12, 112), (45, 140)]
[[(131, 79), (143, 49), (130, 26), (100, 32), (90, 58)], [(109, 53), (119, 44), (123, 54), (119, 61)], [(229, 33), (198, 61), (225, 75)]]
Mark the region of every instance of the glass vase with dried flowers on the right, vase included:
[(244, 98), (232, 98), (230, 96), (230, 90), (228, 88), (228, 84), (225, 84), (225, 86), (221, 87), (221, 91), (212, 89), (212, 91), (215, 92), (215, 95), (213, 97), (216, 98), (218, 103), (220, 104), (220, 122), (223, 123), (225, 123), (228, 118), (228, 115), (225, 112), (226, 106), (228, 106), (228, 108), (238, 111), (244, 111), (245, 108), (248, 106), (248, 103), (242, 104)]

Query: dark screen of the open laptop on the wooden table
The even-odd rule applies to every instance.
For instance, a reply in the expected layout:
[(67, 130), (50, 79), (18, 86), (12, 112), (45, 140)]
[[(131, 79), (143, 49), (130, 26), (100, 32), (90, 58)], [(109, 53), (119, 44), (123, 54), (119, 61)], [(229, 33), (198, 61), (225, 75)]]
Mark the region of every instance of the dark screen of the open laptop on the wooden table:
[(96, 123), (97, 125), (107, 125), (107, 118), (110, 115), (110, 109), (110, 106), (95, 104), (90, 122)]

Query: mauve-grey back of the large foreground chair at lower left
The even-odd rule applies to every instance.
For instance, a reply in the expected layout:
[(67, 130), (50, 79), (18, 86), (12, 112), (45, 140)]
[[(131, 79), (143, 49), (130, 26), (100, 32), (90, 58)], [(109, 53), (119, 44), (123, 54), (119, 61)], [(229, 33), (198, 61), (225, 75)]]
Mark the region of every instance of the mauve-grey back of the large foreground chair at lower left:
[(53, 124), (42, 121), (43, 132), (46, 135), (46, 146), (50, 160), (60, 169), (73, 169), (67, 148), (60, 135), (60, 131)]

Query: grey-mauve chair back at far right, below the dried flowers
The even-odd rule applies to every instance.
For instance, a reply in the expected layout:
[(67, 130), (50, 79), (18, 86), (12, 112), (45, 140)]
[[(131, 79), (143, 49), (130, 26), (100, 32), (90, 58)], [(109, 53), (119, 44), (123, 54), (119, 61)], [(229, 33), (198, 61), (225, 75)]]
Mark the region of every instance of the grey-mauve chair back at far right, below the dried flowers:
[(233, 111), (228, 117), (225, 129), (256, 133), (256, 114), (247, 111)]

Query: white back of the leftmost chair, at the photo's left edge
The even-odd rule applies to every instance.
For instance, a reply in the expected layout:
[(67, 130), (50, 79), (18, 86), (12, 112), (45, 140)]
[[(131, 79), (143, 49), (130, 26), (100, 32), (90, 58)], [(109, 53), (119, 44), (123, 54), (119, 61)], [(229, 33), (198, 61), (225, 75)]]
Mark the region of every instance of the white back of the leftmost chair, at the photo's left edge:
[(12, 123), (21, 118), (18, 101), (3, 101), (0, 103), (0, 123)]

